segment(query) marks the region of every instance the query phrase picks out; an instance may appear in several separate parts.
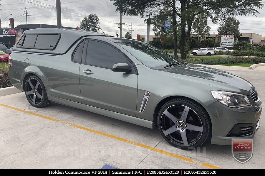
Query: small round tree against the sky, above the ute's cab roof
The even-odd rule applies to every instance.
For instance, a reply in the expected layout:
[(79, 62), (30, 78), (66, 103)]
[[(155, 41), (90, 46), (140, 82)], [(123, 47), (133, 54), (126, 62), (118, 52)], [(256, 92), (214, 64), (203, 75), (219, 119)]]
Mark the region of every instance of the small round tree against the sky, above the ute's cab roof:
[(99, 32), (100, 27), (99, 24), (99, 18), (96, 14), (90, 13), (89, 16), (85, 16), (84, 19), (80, 22), (80, 29), (83, 29), (85, 31), (94, 31)]

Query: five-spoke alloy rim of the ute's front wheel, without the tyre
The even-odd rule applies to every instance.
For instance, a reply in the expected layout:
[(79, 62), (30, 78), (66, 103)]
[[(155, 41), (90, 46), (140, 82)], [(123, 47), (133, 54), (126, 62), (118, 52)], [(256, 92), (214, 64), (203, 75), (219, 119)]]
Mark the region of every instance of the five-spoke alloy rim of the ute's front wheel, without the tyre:
[(158, 124), (167, 141), (175, 146), (187, 148), (201, 140), (204, 132), (203, 122), (195, 110), (183, 104), (173, 104), (161, 110)]

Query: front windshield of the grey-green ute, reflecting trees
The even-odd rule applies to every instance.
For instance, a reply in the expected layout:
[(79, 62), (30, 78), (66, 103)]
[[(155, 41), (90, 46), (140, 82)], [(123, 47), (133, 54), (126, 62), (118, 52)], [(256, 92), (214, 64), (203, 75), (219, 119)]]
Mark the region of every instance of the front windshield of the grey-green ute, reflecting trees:
[(165, 65), (179, 62), (158, 48), (143, 42), (120, 42), (117, 44), (150, 68), (164, 69)]

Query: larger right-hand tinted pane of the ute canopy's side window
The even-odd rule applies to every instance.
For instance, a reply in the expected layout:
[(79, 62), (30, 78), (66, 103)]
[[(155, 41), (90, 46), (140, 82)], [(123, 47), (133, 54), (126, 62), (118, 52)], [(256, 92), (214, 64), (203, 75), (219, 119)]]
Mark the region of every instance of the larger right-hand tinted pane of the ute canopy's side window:
[[(48, 48), (52, 49), (55, 47), (57, 41), (59, 40), (58, 34), (53, 35), (38, 35), (36, 44), (34, 48)], [(27, 37), (26, 37), (27, 39)], [(24, 45), (23, 45), (24, 46)]]

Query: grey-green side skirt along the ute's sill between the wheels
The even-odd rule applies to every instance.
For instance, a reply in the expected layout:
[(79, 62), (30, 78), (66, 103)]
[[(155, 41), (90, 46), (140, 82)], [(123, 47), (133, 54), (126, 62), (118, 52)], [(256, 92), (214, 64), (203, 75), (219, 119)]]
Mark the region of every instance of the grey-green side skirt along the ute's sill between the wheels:
[(65, 105), (65, 106), (70, 106), (70, 107), (73, 107), (73, 108), (82, 109), (82, 110), (85, 110), (85, 111), (90, 111), (90, 112), (93, 112), (93, 113), (96, 113), (96, 114), (100, 114), (100, 115), (103, 115), (103, 116), (111, 117), (113, 119), (118, 119), (118, 120), (121, 120), (121, 121), (133, 123), (135, 125), (144, 126), (144, 127), (147, 127), (147, 128), (153, 128), (153, 122), (149, 121), (149, 120), (139, 119), (139, 118), (136, 118), (136, 117), (128, 116), (128, 115), (125, 115), (125, 114), (120, 114), (120, 113), (109, 111), (109, 110), (105, 110), (105, 109), (100, 109), (100, 108), (97, 108), (97, 107), (93, 107), (93, 106), (89, 106), (89, 105), (86, 105), (86, 104), (77, 103), (77, 102), (74, 102), (74, 101), (69, 101), (69, 100), (58, 98), (58, 97), (54, 97), (54, 96), (51, 96), (51, 95), (48, 95), (48, 97), (49, 97), (50, 101), (53, 101), (53, 102), (58, 103), (58, 104), (62, 104), (62, 105)]

